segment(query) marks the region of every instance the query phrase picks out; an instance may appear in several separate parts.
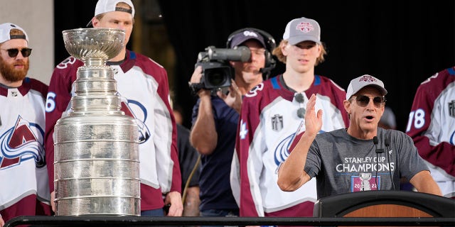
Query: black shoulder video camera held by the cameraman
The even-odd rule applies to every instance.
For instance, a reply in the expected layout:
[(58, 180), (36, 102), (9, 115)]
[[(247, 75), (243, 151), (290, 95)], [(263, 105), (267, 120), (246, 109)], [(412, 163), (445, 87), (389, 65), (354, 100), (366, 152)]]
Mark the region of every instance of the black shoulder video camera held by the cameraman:
[(250, 48), (239, 46), (236, 49), (215, 48), (209, 46), (205, 52), (199, 52), (198, 65), (202, 66), (200, 83), (204, 89), (219, 89), (230, 86), (230, 79), (234, 78), (234, 69), (229, 61), (248, 62), (251, 58)]

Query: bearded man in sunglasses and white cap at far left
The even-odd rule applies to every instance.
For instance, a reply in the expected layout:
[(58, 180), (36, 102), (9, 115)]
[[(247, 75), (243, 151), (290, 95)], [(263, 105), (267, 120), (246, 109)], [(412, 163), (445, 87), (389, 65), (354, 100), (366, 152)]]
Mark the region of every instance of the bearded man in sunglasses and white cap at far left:
[(16, 216), (51, 214), (43, 145), (48, 86), (26, 77), (30, 55), (26, 32), (0, 24), (0, 227)]

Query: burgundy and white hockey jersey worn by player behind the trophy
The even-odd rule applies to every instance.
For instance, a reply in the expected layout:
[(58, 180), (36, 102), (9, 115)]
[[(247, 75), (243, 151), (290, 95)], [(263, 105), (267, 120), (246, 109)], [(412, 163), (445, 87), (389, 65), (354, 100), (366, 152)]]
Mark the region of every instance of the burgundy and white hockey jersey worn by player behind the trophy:
[[(53, 72), (46, 106), (45, 143), (48, 163), (53, 163), (55, 123), (71, 108), (73, 82), (80, 60), (68, 57)], [(141, 211), (164, 206), (163, 194), (181, 192), (178, 165), (177, 128), (169, 104), (166, 70), (149, 57), (127, 50), (121, 65), (111, 65), (122, 111), (136, 119), (139, 126), (139, 161), (141, 176)], [(53, 166), (48, 166), (53, 179)], [(53, 191), (53, 184), (50, 190)]]

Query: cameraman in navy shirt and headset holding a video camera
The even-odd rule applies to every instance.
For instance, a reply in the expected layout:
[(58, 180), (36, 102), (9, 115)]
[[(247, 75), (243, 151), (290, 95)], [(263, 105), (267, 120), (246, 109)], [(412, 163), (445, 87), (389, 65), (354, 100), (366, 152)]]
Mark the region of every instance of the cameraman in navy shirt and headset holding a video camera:
[[(262, 72), (274, 67), (270, 51), (275, 46), (271, 35), (255, 28), (244, 28), (228, 38), (228, 48), (246, 46), (250, 61), (229, 61), (235, 75), (228, 92), (198, 88), (203, 67), (196, 67), (190, 87), (198, 96), (193, 107), (191, 143), (201, 154), (200, 216), (238, 216), (239, 208), (230, 189), (230, 165), (235, 147), (242, 96), (263, 80)], [(268, 66), (266, 65), (268, 62)], [(272, 62), (272, 63), (271, 63)]]

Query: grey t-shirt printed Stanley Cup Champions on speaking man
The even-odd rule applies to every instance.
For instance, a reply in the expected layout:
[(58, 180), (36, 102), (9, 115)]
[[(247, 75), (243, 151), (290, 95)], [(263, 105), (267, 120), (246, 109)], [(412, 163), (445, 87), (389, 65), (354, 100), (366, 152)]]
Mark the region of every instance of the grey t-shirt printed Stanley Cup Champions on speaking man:
[[(408, 135), (378, 128), (377, 136), (376, 147), (373, 140), (354, 138), (346, 129), (316, 135), (305, 171), (316, 177), (318, 199), (349, 192), (392, 190), (393, 184), (399, 190), (401, 177), (411, 179), (428, 170)], [(385, 138), (390, 138), (387, 147)], [(377, 148), (385, 152), (376, 153)]]

